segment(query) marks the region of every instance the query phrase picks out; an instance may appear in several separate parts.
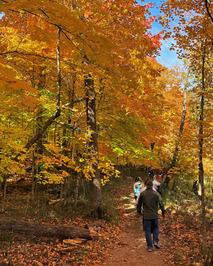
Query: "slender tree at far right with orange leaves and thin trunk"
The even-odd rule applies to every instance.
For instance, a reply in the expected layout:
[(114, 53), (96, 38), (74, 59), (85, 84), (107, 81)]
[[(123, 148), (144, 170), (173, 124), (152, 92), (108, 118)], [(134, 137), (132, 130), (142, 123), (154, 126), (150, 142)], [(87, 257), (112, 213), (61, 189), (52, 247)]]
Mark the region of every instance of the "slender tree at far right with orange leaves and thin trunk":
[[(207, 6), (206, 6), (207, 4)], [(206, 8), (207, 7), (207, 8)], [(204, 121), (207, 119), (205, 103), (212, 101), (210, 96), (212, 74), (210, 65), (212, 64), (212, 32), (213, 24), (210, 21), (209, 9), (211, 8), (206, 1), (166, 1), (162, 10), (166, 15), (165, 22), (174, 20), (175, 14), (179, 24), (174, 28), (172, 37), (176, 40), (176, 47), (182, 58), (190, 61), (190, 70), (195, 74), (195, 79), (199, 86), (196, 87), (198, 99), (200, 99), (199, 124), (198, 124), (198, 169), (199, 182), (202, 187), (202, 221), (203, 233), (205, 235), (205, 190), (204, 190), (204, 168), (203, 155), (204, 146), (207, 147), (204, 131)], [(167, 20), (168, 19), (168, 20)], [(168, 24), (167, 24), (168, 25)], [(205, 143), (205, 144), (204, 144)]]

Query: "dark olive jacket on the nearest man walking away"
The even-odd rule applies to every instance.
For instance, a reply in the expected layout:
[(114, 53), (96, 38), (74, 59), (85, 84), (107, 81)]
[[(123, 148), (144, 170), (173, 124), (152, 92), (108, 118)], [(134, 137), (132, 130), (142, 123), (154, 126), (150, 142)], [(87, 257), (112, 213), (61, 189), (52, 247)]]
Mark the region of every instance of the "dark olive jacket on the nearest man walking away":
[(165, 209), (160, 194), (156, 191), (153, 191), (151, 188), (147, 188), (140, 194), (137, 205), (138, 213), (141, 212), (142, 204), (144, 219), (157, 219), (158, 205), (160, 206), (162, 214), (165, 214)]

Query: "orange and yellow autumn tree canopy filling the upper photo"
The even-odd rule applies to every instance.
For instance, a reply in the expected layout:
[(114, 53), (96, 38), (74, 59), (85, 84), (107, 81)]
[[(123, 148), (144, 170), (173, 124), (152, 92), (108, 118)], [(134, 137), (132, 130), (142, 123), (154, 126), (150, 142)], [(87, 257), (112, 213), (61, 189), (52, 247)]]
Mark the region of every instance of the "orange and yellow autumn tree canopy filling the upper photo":
[[(64, 183), (72, 172), (91, 181), (101, 172), (105, 184), (119, 174), (117, 164), (153, 166), (170, 170), (169, 178), (184, 173), (193, 180), (201, 174), (201, 153), (208, 175), (211, 3), (165, 1), (165, 31), (156, 35), (151, 6), (1, 1), (2, 179), (30, 163), (45, 182)], [(157, 62), (169, 37), (187, 71)]]

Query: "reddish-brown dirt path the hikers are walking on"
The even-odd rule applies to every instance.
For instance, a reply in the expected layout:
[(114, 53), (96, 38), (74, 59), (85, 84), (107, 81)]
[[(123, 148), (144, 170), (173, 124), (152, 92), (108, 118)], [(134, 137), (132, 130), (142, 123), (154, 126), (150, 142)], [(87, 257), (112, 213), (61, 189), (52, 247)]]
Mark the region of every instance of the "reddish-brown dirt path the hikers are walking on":
[(134, 206), (133, 194), (128, 198), (123, 198), (126, 202), (125, 206), (125, 225), (119, 236), (119, 242), (116, 247), (110, 251), (109, 257), (104, 261), (106, 266), (165, 266), (169, 265), (166, 262), (164, 251), (166, 247), (166, 239), (159, 234), (160, 250), (153, 249), (153, 252), (148, 252), (144, 231), (142, 229), (141, 217), (136, 213)]

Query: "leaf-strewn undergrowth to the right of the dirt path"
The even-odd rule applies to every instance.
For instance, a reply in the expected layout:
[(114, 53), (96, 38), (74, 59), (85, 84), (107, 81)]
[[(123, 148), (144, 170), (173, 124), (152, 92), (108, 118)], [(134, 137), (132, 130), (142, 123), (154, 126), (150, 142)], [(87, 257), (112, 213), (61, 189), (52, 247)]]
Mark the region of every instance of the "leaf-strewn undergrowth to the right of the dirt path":
[(164, 190), (167, 215), (162, 229), (171, 241), (169, 253), (175, 265), (209, 266), (213, 264), (213, 210), (211, 205), (206, 209), (207, 236), (203, 236), (199, 198), (186, 191), (177, 187)]

